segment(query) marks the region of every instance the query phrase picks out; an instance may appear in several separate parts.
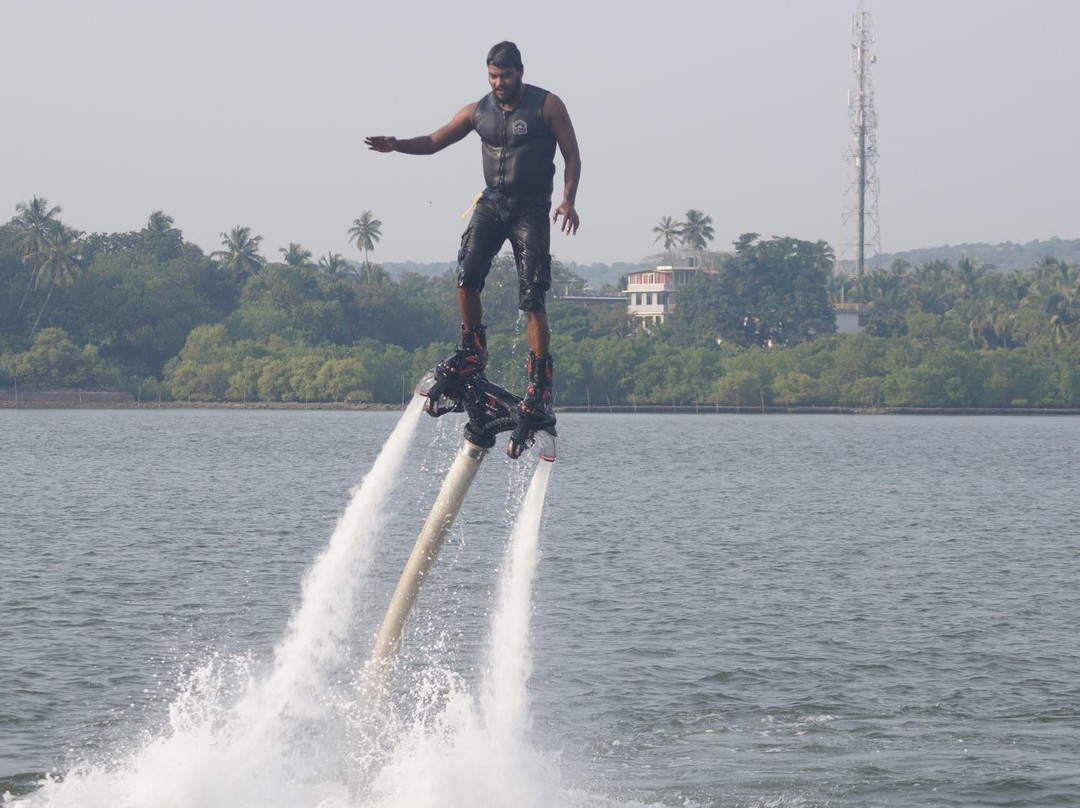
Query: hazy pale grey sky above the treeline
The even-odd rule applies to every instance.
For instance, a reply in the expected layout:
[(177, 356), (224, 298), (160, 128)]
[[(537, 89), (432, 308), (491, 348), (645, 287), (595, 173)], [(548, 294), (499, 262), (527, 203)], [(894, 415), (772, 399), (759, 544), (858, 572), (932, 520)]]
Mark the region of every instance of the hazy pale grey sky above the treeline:
[[(1080, 237), (1075, 0), (867, 0), (886, 252)], [(483, 186), (475, 135), (426, 158), (363, 137), (427, 134), (488, 87), (512, 39), (581, 144), (579, 262), (638, 260), (652, 227), (712, 215), (837, 243), (858, 0), (0, 0), (0, 220), (33, 196), (85, 231), (176, 219), (207, 252), (237, 225), (376, 260), (453, 261)], [(558, 181), (562, 161), (558, 161)], [(558, 188), (558, 181), (556, 188)]]

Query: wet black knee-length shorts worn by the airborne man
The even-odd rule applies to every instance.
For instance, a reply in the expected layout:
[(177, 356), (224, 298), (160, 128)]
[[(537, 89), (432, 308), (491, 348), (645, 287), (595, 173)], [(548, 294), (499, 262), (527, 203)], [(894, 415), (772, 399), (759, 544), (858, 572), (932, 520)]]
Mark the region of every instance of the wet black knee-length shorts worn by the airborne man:
[(481, 292), (491, 261), (510, 241), (517, 264), (517, 307), (543, 312), (551, 288), (550, 200), (517, 201), (483, 196), (476, 201), (458, 252), (458, 286)]

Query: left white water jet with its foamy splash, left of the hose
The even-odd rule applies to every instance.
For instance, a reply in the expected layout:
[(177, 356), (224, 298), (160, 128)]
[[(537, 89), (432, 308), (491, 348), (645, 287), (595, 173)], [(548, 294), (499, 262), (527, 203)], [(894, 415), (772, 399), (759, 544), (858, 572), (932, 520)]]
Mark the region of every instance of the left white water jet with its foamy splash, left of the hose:
[[(270, 808), (343, 804), (343, 721), (355, 595), (383, 528), (387, 499), (416, 433), (415, 396), (305, 577), (269, 675), (247, 658), (206, 660), (181, 683), (163, 733), (130, 754), (50, 780), (27, 808)], [(328, 802), (327, 802), (328, 800)], [(5, 800), (6, 803), (6, 800)]]

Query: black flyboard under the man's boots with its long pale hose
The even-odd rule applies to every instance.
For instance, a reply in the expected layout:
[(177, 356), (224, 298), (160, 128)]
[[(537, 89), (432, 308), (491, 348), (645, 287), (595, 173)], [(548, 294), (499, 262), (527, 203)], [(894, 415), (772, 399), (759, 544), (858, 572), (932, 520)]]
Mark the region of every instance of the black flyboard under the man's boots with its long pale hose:
[(521, 398), (483, 374), (454, 379), (440, 378), (435, 371), (430, 371), (417, 385), (416, 392), (427, 398), (423, 408), (432, 417), (464, 413), (468, 421), (464, 440), (397, 581), (363, 672), (356, 712), (350, 722), (349, 791), (353, 802), (367, 792), (380, 755), (390, 671), (409, 612), (488, 450), (496, 445), (499, 434), (510, 432), (509, 457), (517, 459), (536, 446), (540, 462), (555, 461), (554, 417), (537, 420), (522, 416), (517, 409)]

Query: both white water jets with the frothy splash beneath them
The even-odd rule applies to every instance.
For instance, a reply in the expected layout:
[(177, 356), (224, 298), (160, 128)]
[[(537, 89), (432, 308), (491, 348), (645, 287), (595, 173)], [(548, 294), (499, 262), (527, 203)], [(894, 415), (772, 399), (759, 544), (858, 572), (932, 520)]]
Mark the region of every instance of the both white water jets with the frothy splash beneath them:
[[(349, 629), (420, 409), (421, 400), (414, 400), (307, 573), (269, 672), (249, 657), (213, 656), (185, 676), (163, 730), (132, 740), (113, 759), (83, 764), (33, 794), (4, 803), (23, 808), (350, 806), (347, 722), (362, 660), (350, 654)], [(397, 705), (387, 754), (364, 806), (608, 804), (563, 790), (556, 758), (527, 740), (531, 588), (551, 468), (538, 462), (512, 529), (480, 692), (433, 665), (422, 677), (427, 685), (406, 692), (406, 703)]]

